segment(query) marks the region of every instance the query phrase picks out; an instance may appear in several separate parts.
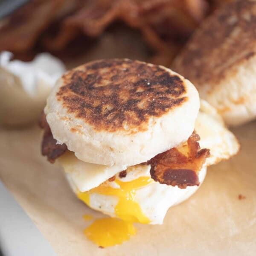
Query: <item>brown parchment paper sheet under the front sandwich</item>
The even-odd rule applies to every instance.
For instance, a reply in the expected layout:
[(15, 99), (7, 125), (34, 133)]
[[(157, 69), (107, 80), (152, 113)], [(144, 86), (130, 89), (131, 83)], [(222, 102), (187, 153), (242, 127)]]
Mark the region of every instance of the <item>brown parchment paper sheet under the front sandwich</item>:
[[(41, 131), (0, 129), (0, 178), (58, 255), (256, 255), (256, 122), (233, 129), (241, 151), (208, 169), (189, 200), (163, 225), (136, 224), (130, 241), (101, 249), (83, 234), (102, 217), (71, 192), (61, 169), (40, 154)], [(239, 194), (245, 198), (239, 200)]]

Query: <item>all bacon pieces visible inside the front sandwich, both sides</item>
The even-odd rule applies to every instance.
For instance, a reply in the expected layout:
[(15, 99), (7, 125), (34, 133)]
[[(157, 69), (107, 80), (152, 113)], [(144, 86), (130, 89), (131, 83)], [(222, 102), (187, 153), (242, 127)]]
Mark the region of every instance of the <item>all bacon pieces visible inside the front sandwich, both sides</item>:
[[(39, 125), (44, 129), (41, 153), (47, 156), (50, 163), (54, 163), (67, 151), (67, 145), (56, 144), (57, 141), (52, 136), (45, 114), (42, 115)], [(187, 186), (199, 186), (198, 172), (202, 169), (206, 158), (210, 156), (210, 151), (207, 148), (200, 149), (198, 140), (200, 137), (195, 132), (189, 137), (187, 156), (177, 148), (171, 148), (149, 160), (147, 164), (151, 165), (151, 178), (161, 184), (178, 186), (180, 189), (185, 189)], [(119, 173), (119, 177), (125, 176), (126, 171)], [(109, 180), (114, 179), (115, 176)]]

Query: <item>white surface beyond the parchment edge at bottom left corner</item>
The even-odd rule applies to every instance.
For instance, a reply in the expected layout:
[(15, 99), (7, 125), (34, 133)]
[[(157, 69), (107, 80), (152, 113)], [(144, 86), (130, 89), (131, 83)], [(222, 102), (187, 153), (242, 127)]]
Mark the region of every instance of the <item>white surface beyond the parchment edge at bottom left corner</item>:
[(4, 256), (55, 256), (48, 241), (35, 227), (0, 181), (0, 248)]

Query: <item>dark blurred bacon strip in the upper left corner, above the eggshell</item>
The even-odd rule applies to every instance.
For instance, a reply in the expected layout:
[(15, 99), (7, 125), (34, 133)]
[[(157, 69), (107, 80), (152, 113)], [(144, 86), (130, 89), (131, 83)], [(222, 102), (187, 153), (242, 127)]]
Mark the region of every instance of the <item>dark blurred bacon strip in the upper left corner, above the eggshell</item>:
[(55, 20), (76, 9), (78, 0), (31, 0), (0, 21), (0, 51), (31, 49)]

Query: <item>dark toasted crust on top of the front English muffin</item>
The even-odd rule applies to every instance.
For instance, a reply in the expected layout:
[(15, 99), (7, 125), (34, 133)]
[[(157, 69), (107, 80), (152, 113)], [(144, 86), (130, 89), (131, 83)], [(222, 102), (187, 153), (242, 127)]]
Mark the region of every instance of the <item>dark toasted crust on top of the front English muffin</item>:
[(94, 61), (62, 79), (57, 100), (97, 131), (145, 131), (150, 117), (160, 117), (186, 102), (186, 86), (179, 76), (140, 61)]

